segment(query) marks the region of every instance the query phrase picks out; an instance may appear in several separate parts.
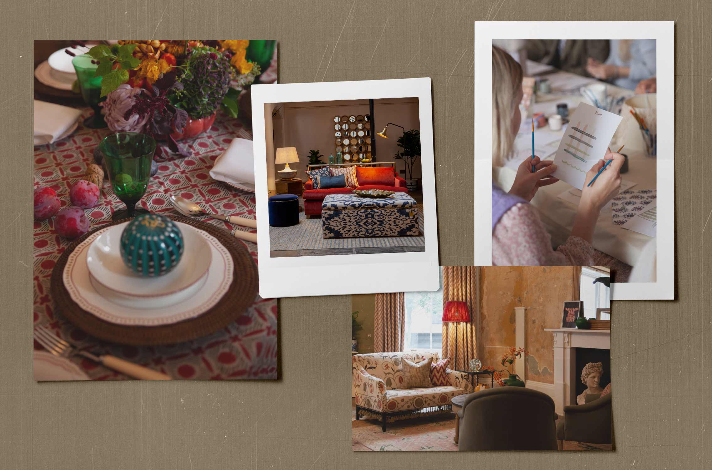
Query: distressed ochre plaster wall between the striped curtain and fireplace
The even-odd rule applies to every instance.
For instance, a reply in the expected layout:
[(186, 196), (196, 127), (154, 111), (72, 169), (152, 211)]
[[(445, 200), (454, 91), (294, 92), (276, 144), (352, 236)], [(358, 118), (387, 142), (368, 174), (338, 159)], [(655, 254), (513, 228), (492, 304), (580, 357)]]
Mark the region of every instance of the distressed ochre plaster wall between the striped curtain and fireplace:
[(502, 354), (515, 346), (514, 308), (526, 310), (527, 379), (553, 383), (553, 336), (560, 326), (560, 306), (571, 300), (572, 267), (483, 267), (480, 277), (483, 364), (501, 368)]

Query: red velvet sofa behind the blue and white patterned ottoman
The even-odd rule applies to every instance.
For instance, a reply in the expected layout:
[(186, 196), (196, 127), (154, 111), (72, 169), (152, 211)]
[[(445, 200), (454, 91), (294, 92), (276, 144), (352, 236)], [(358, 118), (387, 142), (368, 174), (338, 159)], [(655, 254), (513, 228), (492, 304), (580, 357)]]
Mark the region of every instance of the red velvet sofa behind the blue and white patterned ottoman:
[[(395, 168), (389, 166), (382, 167), (356, 167), (357, 181), (359, 186), (356, 189), (382, 189), (384, 191), (396, 191), (398, 193), (408, 193), (405, 180), (398, 176)], [(385, 173), (392, 173), (393, 181), (384, 181)], [(389, 180), (389, 175), (386, 180)], [(387, 182), (387, 183), (386, 183)], [(377, 184), (381, 183), (381, 184)], [(383, 184), (386, 183), (386, 184)], [(353, 188), (328, 188), (313, 189), (314, 184), (309, 179), (304, 184), (304, 213), (305, 215), (321, 215), (321, 203), (329, 194), (350, 194)]]

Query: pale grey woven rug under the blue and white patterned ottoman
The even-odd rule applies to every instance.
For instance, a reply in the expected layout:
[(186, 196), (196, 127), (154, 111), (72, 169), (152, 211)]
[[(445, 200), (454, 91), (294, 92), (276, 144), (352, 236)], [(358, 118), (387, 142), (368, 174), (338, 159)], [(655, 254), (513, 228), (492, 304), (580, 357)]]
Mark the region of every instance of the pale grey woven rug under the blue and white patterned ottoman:
[[(300, 199), (300, 203), (303, 203)], [(321, 250), (324, 248), (361, 248), (361, 247), (418, 247), (425, 246), (423, 231), (423, 205), (418, 204), (417, 237), (362, 237), (362, 238), (324, 238), (321, 219), (308, 219), (299, 213), (299, 223), (291, 227), (270, 227), (269, 242), (271, 251), (284, 250)]]

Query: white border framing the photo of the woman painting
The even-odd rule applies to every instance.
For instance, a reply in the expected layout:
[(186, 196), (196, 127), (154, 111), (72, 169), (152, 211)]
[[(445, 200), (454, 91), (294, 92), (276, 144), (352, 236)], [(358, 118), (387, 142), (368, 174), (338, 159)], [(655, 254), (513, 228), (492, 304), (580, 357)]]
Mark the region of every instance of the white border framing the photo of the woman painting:
[[(656, 188), (659, 219), (656, 282), (612, 282), (612, 300), (674, 299), (675, 108), (674, 21), (476, 21), (475, 31), (475, 265), (492, 265), (492, 41), (496, 39), (655, 39), (657, 88)], [(625, 175), (622, 176), (625, 179)], [(490, 230), (487, 230), (490, 228)], [(648, 253), (647, 255), (654, 255)]]

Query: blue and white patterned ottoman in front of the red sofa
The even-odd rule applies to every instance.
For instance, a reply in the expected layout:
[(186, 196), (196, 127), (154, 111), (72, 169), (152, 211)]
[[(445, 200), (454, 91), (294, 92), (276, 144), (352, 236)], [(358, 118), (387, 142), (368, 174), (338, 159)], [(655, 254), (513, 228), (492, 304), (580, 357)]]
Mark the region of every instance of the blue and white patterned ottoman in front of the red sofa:
[(418, 208), (407, 193), (388, 198), (330, 194), (321, 205), (324, 238), (420, 235)]

